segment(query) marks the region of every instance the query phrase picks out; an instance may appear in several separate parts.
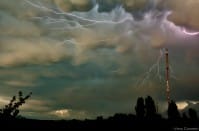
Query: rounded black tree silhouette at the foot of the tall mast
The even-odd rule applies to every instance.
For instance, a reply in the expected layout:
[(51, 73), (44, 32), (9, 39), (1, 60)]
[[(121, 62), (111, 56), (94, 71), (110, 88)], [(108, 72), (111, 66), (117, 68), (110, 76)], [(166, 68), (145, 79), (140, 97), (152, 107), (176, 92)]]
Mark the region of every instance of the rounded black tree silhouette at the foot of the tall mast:
[(169, 103), (167, 113), (168, 113), (168, 119), (174, 119), (175, 120), (175, 119), (180, 118), (180, 113), (178, 111), (178, 107), (173, 100)]

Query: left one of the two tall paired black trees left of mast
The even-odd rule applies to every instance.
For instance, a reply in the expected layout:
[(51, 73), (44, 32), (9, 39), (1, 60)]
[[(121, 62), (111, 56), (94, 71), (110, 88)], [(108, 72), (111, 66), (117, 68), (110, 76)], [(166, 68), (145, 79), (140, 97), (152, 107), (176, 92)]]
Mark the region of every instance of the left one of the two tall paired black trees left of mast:
[(144, 105), (144, 99), (142, 97), (139, 97), (137, 99), (137, 104), (135, 106), (136, 116), (138, 118), (144, 118), (145, 115), (145, 105)]

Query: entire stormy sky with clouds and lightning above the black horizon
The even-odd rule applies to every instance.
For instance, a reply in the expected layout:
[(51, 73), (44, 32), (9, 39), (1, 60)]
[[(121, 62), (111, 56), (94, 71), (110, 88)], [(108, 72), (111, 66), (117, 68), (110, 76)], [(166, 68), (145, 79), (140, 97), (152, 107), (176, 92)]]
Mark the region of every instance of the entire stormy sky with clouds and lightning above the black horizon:
[[(199, 101), (199, 0), (0, 0), (0, 107), (84, 119), (134, 113), (139, 96), (167, 108)], [(198, 31), (198, 32), (197, 32)]]

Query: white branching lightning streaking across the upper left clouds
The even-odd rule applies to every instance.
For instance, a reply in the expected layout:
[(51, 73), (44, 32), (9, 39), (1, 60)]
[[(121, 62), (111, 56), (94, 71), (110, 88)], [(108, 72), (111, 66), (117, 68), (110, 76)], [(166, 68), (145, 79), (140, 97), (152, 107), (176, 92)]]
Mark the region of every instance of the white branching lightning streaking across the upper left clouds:
[[(48, 7), (44, 6), (40, 2), (33, 3), (30, 0), (25, 0), (25, 2), (27, 2), (28, 4), (30, 4), (31, 6), (33, 6), (35, 8), (38, 8), (40, 10), (47, 11), (47, 12), (50, 12), (50, 13), (57, 15), (58, 18), (53, 18), (51, 16), (33, 17), (33, 19), (44, 21), (46, 25), (57, 24), (57, 23), (65, 23), (65, 24), (68, 23), (68, 24), (70, 24), (70, 23), (74, 23), (76, 21), (78, 21), (78, 23), (81, 23), (81, 24), (74, 24), (73, 26), (70, 26), (70, 27), (67, 27), (67, 26), (65, 26), (65, 27), (51, 27), (52, 30), (57, 30), (57, 31), (67, 32), (67, 31), (73, 31), (73, 30), (76, 30), (76, 29), (83, 29), (83, 28), (92, 27), (92, 26), (95, 26), (97, 24), (115, 25), (115, 24), (123, 23), (127, 20), (130, 20), (130, 21), (133, 20), (132, 17), (125, 17), (124, 19), (119, 20), (119, 21), (87, 19), (87, 18), (78, 16), (78, 15), (75, 15), (75, 14), (72, 14), (72, 13), (64, 12), (59, 7), (57, 7), (56, 9), (52, 9), (52, 8), (48, 8)], [(97, 9), (98, 9), (98, 5), (96, 4), (96, 6), (93, 8), (93, 10), (97, 10)], [(60, 18), (61, 16), (62, 16), (62, 18)], [(111, 41), (111, 40), (114, 41), (115, 39), (119, 39), (120, 37), (122, 37), (122, 35), (117, 36), (117, 37), (112, 37), (112, 38), (98, 39), (98, 40), (96, 40), (96, 43), (106, 42), (106, 41)], [(65, 43), (67, 41), (68, 40), (64, 40), (63, 43)]]

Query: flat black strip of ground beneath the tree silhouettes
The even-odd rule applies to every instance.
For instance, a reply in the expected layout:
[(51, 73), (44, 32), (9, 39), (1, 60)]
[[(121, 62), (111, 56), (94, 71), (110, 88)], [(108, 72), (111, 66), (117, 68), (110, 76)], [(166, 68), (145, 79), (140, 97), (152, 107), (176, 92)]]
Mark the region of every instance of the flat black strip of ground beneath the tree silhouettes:
[(1, 120), (4, 129), (119, 129), (119, 130), (194, 130), (199, 131), (199, 121), (190, 119), (168, 120), (161, 117), (140, 119), (134, 115), (116, 114), (108, 119), (96, 120)]

